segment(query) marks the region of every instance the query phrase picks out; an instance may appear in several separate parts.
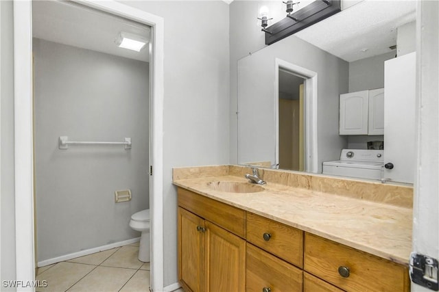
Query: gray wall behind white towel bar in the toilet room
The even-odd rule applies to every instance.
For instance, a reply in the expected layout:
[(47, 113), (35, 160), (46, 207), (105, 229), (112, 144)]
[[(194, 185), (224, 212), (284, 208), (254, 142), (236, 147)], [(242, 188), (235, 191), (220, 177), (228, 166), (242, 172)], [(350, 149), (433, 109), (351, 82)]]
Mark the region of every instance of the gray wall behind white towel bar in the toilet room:
[[(34, 38), (34, 140), (38, 261), (140, 233), (149, 208), (149, 64)], [(69, 146), (123, 141), (123, 146)], [(130, 202), (115, 191), (131, 189)]]

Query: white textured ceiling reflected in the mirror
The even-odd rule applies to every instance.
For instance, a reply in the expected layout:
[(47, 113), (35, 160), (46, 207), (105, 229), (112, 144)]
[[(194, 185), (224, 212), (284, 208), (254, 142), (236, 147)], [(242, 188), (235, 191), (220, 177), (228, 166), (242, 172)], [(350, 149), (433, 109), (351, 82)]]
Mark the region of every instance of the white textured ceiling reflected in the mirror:
[[(342, 8), (344, 3), (342, 1)], [(347, 62), (392, 51), (396, 27), (416, 20), (414, 0), (364, 0), (294, 34)]]

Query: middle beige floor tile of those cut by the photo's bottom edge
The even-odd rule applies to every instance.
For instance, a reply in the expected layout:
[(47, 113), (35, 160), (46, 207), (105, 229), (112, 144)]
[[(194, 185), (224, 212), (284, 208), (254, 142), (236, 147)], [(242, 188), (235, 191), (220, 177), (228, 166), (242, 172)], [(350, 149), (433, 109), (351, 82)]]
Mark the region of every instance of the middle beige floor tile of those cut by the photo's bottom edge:
[(135, 272), (135, 269), (97, 267), (78, 283), (74, 284), (69, 291), (119, 291)]

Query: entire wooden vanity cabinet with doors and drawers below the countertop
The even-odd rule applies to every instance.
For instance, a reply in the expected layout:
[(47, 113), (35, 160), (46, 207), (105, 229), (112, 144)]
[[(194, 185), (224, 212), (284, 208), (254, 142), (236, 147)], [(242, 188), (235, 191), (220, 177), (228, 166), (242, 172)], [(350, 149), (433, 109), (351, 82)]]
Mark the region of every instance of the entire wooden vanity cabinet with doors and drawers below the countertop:
[(197, 292), (410, 291), (404, 265), (182, 188), (178, 280)]

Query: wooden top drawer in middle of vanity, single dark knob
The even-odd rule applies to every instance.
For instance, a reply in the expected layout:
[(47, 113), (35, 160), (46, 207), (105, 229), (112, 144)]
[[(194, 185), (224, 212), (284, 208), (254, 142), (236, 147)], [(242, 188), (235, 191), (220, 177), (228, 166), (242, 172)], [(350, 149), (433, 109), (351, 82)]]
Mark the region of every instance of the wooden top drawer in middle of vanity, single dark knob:
[(247, 213), (246, 230), (247, 241), (293, 265), (303, 267), (302, 230), (253, 213)]

